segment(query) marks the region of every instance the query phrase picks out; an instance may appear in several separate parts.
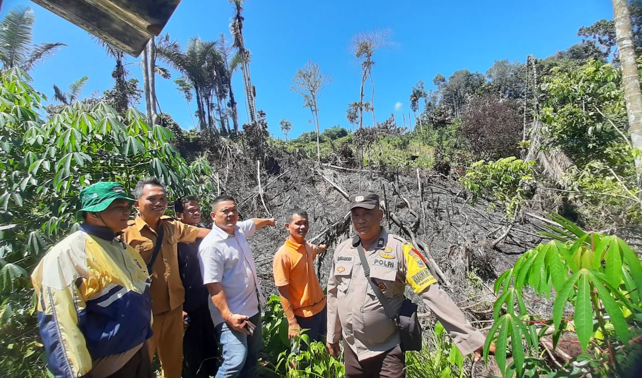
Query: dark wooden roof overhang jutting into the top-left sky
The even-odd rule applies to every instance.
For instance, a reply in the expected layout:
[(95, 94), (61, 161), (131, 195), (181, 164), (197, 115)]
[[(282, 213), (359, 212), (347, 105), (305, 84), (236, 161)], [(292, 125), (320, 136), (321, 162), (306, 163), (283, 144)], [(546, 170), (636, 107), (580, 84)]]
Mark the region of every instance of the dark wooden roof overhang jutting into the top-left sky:
[(167, 24), (180, 0), (32, 0), (133, 56)]

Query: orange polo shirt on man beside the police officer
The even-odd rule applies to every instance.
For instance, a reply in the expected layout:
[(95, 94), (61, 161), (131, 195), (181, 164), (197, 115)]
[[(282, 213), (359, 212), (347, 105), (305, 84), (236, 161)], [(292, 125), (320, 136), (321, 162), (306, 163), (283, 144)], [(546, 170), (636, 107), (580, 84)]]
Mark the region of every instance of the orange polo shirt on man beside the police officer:
[(309, 318), (325, 307), (325, 295), (312, 264), (318, 247), (308, 242), (297, 244), (286, 239), (274, 255), (274, 283), (289, 286), (294, 315)]

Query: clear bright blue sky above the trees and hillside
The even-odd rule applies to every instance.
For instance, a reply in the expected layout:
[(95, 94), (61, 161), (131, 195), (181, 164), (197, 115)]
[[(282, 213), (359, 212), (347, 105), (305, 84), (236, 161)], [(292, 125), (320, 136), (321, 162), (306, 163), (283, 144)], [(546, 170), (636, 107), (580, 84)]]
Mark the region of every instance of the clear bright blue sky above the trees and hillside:
[[(28, 1), (5, 0), (0, 17), (16, 5), (35, 11), (34, 42), (64, 42), (53, 58), (36, 67), (35, 87), (53, 97), (52, 85), (62, 88), (89, 76), (83, 96), (110, 88), (114, 62), (85, 31)], [(291, 92), (292, 78), (308, 60), (320, 65), (333, 82), (318, 100), (322, 128), (340, 125), (347, 104), (358, 101), (360, 67), (350, 52), (350, 40), (360, 31), (388, 28), (392, 49), (378, 51), (372, 76), (376, 86), (376, 118), (383, 122), (394, 113), (397, 124), (408, 117), (408, 96), (419, 80), (426, 88), (441, 73), (448, 78), (460, 69), (486, 72), (495, 60), (525, 61), (528, 54), (545, 58), (580, 41), (577, 30), (600, 19), (612, 19), (611, 1), (266, 1), (245, 4), (245, 45), (252, 53), (250, 72), (256, 86), (257, 109), (267, 113), (270, 132), (281, 136), (279, 120), (293, 123), (290, 136), (313, 129), (309, 110), (300, 95)], [(198, 35), (205, 40), (229, 36), (232, 6), (227, 0), (184, 0), (163, 30), (185, 44)], [(127, 58), (130, 74), (141, 80), (140, 58)], [(159, 63), (164, 65), (163, 63)], [(184, 129), (193, 127), (185, 99), (172, 78), (157, 78), (160, 108)], [(239, 121), (247, 116), (243, 106), (241, 73), (234, 74)], [(367, 93), (370, 93), (367, 91)], [(399, 106), (399, 104), (401, 105)], [(397, 106), (395, 106), (397, 104)], [(139, 106), (144, 110), (144, 104)], [(195, 105), (192, 104), (192, 110)], [(365, 124), (371, 120), (365, 115)]]

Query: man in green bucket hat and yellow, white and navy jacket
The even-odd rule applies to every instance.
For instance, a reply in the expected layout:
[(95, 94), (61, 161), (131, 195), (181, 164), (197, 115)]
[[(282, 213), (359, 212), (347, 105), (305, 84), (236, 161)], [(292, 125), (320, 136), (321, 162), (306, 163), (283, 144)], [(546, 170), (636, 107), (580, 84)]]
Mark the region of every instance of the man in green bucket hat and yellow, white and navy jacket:
[(150, 378), (150, 278), (120, 234), (134, 199), (118, 183), (80, 192), (78, 231), (31, 274), (40, 336), (54, 377)]

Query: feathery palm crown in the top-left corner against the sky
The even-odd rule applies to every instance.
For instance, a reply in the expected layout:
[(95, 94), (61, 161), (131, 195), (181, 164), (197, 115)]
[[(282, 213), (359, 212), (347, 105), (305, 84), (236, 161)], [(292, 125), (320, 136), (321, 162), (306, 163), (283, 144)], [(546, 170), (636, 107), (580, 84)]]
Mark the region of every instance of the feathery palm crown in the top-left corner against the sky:
[(0, 62), (3, 69), (19, 67), (29, 72), (35, 65), (52, 56), (61, 42), (33, 45), (33, 24), (36, 19), (29, 6), (17, 6), (0, 22)]

